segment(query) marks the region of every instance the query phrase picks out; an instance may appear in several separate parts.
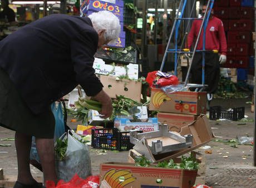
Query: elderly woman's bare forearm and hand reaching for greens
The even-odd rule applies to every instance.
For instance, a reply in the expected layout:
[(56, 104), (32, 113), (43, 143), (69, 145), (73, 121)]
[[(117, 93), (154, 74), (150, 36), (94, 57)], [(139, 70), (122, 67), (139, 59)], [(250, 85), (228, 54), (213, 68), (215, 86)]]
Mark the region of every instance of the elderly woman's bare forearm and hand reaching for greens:
[(101, 118), (109, 118), (112, 115), (113, 106), (112, 100), (107, 95), (104, 90), (101, 90), (97, 95), (92, 97), (93, 99), (99, 101), (102, 104), (101, 111), (99, 111)]

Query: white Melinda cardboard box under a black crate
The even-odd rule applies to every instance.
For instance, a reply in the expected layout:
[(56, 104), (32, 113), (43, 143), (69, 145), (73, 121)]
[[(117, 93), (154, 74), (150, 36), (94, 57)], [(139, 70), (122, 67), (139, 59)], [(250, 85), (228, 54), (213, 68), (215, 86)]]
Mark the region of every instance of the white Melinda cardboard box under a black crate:
[(120, 77), (121, 75), (128, 75), (130, 79), (138, 79), (139, 75), (139, 65), (138, 64), (128, 64), (127, 73), (125, 67), (113, 66), (111, 64), (105, 64), (104, 60), (100, 58), (95, 58), (93, 62), (93, 69), (95, 69), (96, 74), (111, 75), (114, 77)]

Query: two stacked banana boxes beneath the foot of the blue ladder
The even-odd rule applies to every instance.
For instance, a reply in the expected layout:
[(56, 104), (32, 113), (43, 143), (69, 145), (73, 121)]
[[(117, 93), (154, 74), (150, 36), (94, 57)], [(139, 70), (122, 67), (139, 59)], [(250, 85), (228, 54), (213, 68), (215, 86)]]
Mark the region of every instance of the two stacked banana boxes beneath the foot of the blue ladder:
[(175, 92), (166, 94), (152, 88), (149, 110), (157, 110), (160, 123), (168, 124), (169, 130), (177, 131), (188, 125), (200, 114), (206, 114), (205, 92)]

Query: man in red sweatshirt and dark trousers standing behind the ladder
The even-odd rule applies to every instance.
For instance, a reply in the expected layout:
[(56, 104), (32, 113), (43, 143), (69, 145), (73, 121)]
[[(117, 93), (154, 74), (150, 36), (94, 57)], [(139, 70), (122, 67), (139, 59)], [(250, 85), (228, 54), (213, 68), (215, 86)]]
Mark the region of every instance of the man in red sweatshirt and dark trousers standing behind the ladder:
[[(202, 7), (203, 17), (205, 16), (206, 5)], [(202, 20), (195, 20), (192, 24), (188, 35), (188, 48), (198, 37)], [(203, 49), (203, 31), (201, 32), (197, 50)], [(213, 16), (213, 9), (210, 13), (210, 18), (205, 31), (205, 84), (208, 85), (206, 92), (208, 93), (208, 106), (210, 100), (213, 98), (213, 93), (218, 89), (218, 82), (220, 77), (220, 64), (227, 60), (227, 40), (225, 37), (223, 23), (219, 18)], [(213, 53), (213, 50), (218, 50), (218, 53)], [(194, 60), (191, 67), (191, 83), (202, 83), (202, 57), (203, 53), (195, 53)]]

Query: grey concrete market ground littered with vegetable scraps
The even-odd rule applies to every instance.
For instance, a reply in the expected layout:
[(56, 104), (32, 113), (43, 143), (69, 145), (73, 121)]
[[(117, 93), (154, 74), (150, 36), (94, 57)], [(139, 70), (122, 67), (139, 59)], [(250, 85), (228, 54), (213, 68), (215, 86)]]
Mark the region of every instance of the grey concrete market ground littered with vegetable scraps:
[[(210, 105), (221, 105), (223, 107), (226, 106), (227, 108), (232, 106), (245, 106), (245, 115), (248, 115), (248, 119), (254, 119), (254, 114), (250, 112), (250, 105), (245, 104), (246, 101), (250, 101), (250, 98), (233, 100), (214, 99)], [(77, 123), (70, 123), (70, 121), (68, 122), (68, 125), (70, 125), (71, 128), (75, 128), (76, 124)], [(254, 122), (210, 120), (210, 125), (215, 136), (222, 137), (218, 139), (233, 139), (237, 138), (237, 136), (245, 135), (253, 136), (254, 131)], [(14, 138), (14, 132), (0, 127), (0, 139), (2, 138)], [(0, 146), (0, 168), (4, 170), (5, 175), (17, 175), (14, 141), (0, 141), (0, 144), (11, 144), (11, 146), (8, 147)], [(211, 150), (213, 151), (212, 154), (205, 154), (203, 149), (197, 150), (206, 157), (206, 184), (213, 187), (241, 187), (241, 185), (221, 185), (221, 182), (213, 182), (213, 180), (216, 180), (216, 178), (214, 179), (216, 175), (223, 173), (227, 169), (255, 169), (253, 167), (253, 147), (249, 145), (238, 145), (238, 148), (232, 148), (227, 144), (215, 141), (211, 141), (208, 145), (211, 146)], [(128, 151), (107, 151), (106, 155), (100, 155), (101, 150), (90, 148), (90, 151), (93, 174), (99, 174), (101, 162), (127, 161)], [(228, 158), (224, 158), (224, 155), (227, 155)], [(35, 176), (42, 176), (42, 173), (33, 166), (31, 166), (31, 171)], [(241, 174), (241, 176), (243, 175)], [(229, 178), (231, 177), (227, 177), (227, 179)]]

